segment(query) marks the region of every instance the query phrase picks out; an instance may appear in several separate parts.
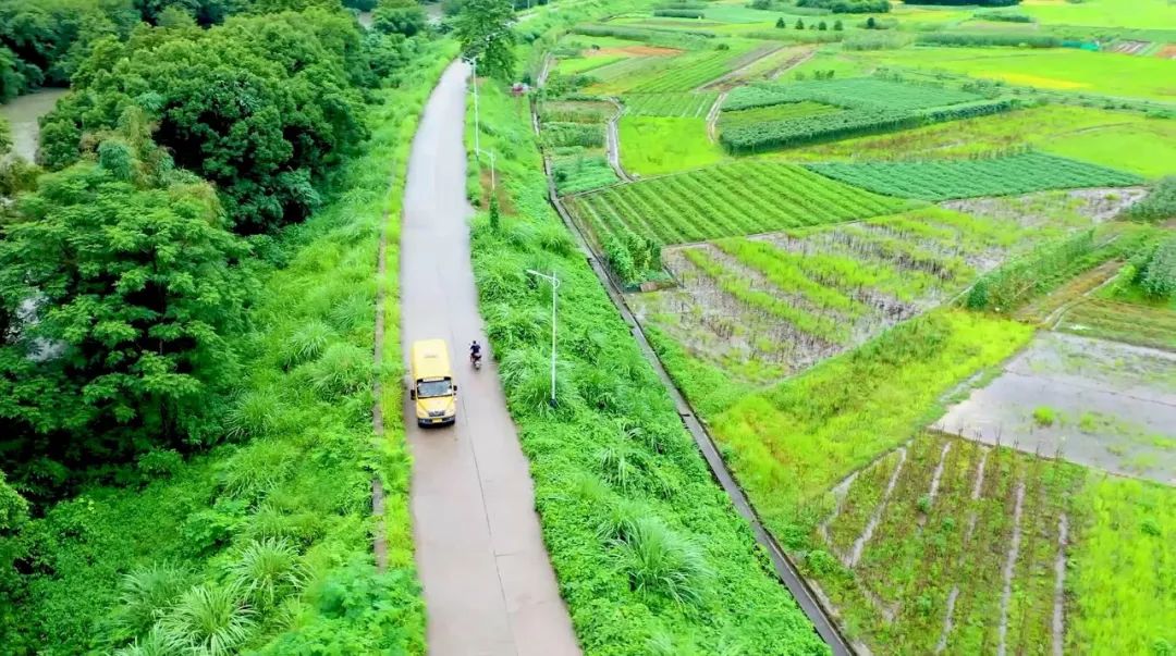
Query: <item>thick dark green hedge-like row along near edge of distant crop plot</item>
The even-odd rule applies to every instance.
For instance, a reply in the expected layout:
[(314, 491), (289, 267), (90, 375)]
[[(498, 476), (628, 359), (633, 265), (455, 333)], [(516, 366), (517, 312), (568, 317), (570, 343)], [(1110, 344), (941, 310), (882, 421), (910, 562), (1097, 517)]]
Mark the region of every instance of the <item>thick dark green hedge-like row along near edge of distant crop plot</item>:
[(936, 109), (846, 109), (739, 126), (723, 132), (720, 140), (734, 153), (755, 153), (926, 123), (971, 119), (1008, 112), (1014, 107), (1015, 103), (1009, 100), (985, 100)]

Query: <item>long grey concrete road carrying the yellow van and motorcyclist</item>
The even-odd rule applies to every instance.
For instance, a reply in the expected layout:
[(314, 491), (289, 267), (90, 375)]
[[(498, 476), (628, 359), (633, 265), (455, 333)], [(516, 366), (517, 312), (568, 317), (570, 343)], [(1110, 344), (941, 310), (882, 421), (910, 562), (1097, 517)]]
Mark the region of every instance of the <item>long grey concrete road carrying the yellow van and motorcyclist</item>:
[[(473, 371), (466, 346), (485, 343), (469, 260), (466, 152), (468, 67), (449, 66), (413, 140), (401, 233), (401, 337), (449, 342), (457, 423), (416, 427), (412, 513), (435, 656), (580, 654), (543, 547), (527, 457), (487, 359)], [(493, 355), (493, 344), (490, 344)]]

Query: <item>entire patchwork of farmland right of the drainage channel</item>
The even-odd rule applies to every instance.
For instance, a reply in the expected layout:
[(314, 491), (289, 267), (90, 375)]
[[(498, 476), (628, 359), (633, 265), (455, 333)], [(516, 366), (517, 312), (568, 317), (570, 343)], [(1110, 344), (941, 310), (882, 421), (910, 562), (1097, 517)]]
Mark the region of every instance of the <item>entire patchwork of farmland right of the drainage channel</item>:
[(683, 53), (574, 92), (635, 181), (562, 203), (840, 628), (1176, 648), (1176, 12), (682, 11), (600, 24)]

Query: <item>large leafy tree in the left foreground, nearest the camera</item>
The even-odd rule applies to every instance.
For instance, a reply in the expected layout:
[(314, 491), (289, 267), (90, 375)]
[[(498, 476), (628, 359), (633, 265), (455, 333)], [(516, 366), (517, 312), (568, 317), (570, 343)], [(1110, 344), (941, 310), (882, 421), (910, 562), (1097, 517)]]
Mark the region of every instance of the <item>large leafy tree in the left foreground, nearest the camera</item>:
[(27, 487), (218, 435), (248, 249), (207, 183), (138, 152), (102, 140), (96, 162), (44, 176), (2, 227), (0, 462)]

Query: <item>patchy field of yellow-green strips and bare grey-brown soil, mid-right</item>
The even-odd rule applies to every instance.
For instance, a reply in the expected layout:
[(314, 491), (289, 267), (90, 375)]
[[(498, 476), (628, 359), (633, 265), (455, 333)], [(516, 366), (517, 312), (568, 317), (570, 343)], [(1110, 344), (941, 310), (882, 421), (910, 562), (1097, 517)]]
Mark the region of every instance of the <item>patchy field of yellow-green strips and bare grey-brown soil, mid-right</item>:
[(958, 294), (980, 273), (1090, 225), (980, 220), (940, 208), (663, 250), (675, 288), (630, 295), (693, 357), (775, 382)]

